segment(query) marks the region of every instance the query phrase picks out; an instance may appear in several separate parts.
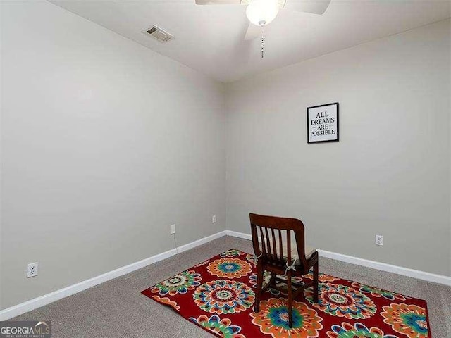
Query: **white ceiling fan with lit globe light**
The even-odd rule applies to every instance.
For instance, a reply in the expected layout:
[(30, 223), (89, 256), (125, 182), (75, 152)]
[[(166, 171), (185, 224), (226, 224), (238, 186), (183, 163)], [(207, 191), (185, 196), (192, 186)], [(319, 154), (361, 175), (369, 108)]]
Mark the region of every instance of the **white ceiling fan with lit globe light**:
[(323, 14), (330, 0), (196, 0), (197, 5), (245, 5), (249, 26), (245, 40), (261, 36), (262, 28), (273, 21), (280, 9)]

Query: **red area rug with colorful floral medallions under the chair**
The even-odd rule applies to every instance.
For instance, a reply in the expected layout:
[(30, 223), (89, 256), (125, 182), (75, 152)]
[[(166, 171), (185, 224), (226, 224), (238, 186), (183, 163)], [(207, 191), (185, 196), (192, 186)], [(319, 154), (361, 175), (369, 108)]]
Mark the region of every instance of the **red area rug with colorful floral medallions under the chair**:
[[(265, 279), (268, 280), (268, 275)], [(307, 282), (311, 273), (297, 282)], [(431, 337), (426, 301), (320, 274), (319, 303), (311, 288), (294, 301), (288, 327), (286, 297), (269, 289), (254, 313), (254, 255), (228, 250), (142, 292), (218, 337)]]

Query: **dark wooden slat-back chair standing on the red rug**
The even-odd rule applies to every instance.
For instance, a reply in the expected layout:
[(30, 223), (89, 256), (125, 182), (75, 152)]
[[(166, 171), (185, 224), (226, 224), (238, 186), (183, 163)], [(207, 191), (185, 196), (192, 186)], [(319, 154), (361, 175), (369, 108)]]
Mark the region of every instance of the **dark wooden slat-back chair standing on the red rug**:
[[(258, 258), (254, 311), (260, 311), (261, 294), (268, 287), (288, 292), (288, 325), (292, 327), (292, 301), (299, 293), (307, 287), (313, 287), (314, 301), (318, 302), (318, 252), (305, 246), (304, 223), (300, 220), (254, 213), (249, 213), (249, 218), (254, 253)], [(295, 235), (294, 242), (292, 232)], [(292, 282), (292, 277), (306, 275), (312, 266), (313, 282), (303, 285)], [(263, 288), (264, 270), (271, 273), (271, 280)], [(286, 280), (278, 275), (285, 275)], [(287, 288), (282, 289), (277, 285), (278, 282), (286, 283)]]

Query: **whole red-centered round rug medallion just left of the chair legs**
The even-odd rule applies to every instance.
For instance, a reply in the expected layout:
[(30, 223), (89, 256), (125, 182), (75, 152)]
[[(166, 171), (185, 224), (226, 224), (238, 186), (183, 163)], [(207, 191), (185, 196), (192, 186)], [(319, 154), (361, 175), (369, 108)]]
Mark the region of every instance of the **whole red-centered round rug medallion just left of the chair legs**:
[(233, 280), (206, 282), (194, 291), (194, 302), (209, 313), (238, 313), (250, 308), (255, 294), (250, 287)]

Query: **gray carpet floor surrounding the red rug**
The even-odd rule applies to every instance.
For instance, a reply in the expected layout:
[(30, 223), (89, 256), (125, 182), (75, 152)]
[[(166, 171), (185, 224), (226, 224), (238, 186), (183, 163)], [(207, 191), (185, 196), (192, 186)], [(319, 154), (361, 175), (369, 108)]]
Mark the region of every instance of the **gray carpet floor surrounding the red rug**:
[[(54, 338), (214, 337), (140, 292), (232, 248), (253, 252), (245, 239), (222, 237), (13, 320), (51, 320)], [(323, 273), (426, 299), (433, 338), (451, 337), (451, 287), (328, 258), (320, 258), (319, 266)]]

